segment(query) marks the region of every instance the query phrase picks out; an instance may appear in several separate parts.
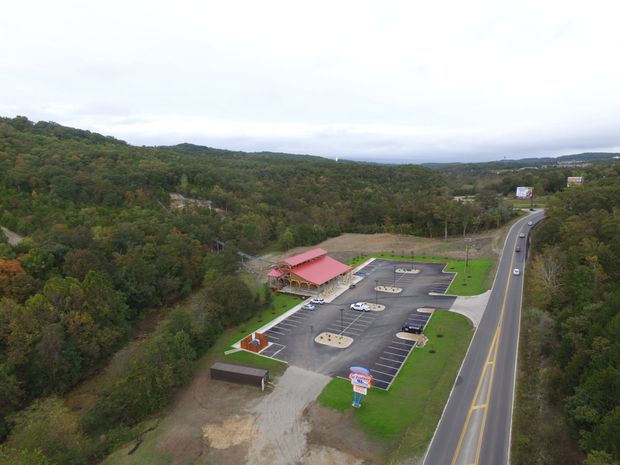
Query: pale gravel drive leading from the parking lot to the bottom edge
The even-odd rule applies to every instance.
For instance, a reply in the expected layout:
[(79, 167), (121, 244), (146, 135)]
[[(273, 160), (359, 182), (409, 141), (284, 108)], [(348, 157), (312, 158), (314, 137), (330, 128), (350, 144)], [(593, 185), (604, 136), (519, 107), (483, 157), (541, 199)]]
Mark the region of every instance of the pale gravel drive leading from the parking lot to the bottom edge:
[(273, 392), (255, 407), (258, 436), (252, 442), (248, 465), (290, 465), (307, 452), (310, 424), (304, 411), (331, 378), (291, 366)]

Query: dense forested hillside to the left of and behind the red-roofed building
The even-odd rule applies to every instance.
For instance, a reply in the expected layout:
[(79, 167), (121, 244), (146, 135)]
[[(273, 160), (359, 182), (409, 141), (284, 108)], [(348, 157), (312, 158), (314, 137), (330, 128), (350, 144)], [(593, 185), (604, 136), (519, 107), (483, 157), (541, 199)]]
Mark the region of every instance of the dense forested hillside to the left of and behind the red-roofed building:
[[(238, 278), (237, 248), (286, 249), (344, 231), (463, 235), (515, 214), (496, 192), (463, 203), (452, 187), (419, 166), (134, 147), (54, 123), (0, 119), (0, 225), (25, 236), (11, 246), (0, 234), (0, 441), (13, 430), (0, 463), (16, 463), (3, 454), (24, 452), (32, 424), (68, 418), (49, 396), (102, 367), (152, 309), (192, 294), (199, 304), (158, 330), (81, 416), (80, 431), (114, 437), (165, 405), (222, 328), (267, 300)], [(196, 201), (179, 208), (172, 193)], [(216, 240), (226, 242), (219, 255)], [(81, 458), (65, 451), (52, 462), (94, 463), (104, 453), (70, 449)], [(40, 459), (32, 460), (48, 463)]]

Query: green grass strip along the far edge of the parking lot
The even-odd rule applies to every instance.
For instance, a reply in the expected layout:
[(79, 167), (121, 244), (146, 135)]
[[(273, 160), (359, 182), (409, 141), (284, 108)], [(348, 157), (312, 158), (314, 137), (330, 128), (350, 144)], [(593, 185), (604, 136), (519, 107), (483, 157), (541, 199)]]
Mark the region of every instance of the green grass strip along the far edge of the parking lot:
[(357, 257), (348, 260), (347, 264), (353, 267), (360, 265), (369, 258), (382, 258), (385, 260), (406, 260), (416, 262), (432, 262), (447, 263), (445, 271), (456, 272), (456, 278), (448, 289), (447, 293), (452, 295), (478, 295), (486, 292), (491, 282), (489, 273), (491, 271), (493, 261), (487, 259), (468, 260), (465, 266), (465, 260), (453, 260), (450, 258), (437, 257), (407, 257), (394, 254), (372, 254)]

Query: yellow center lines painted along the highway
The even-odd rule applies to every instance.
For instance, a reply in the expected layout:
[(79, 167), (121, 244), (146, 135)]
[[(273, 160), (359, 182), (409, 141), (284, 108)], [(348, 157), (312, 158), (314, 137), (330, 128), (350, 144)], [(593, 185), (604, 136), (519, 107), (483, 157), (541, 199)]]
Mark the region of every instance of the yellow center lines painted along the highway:
[[(497, 358), (497, 349), (499, 347), (499, 339), (501, 336), (501, 332), (502, 332), (502, 322), (504, 320), (504, 313), (506, 310), (506, 301), (508, 299), (508, 289), (510, 287), (510, 270), (512, 270), (514, 267), (514, 256), (511, 258), (510, 260), (510, 268), (509, 268), (509, 274), (508, 274), (508, 278), (506, 279), (506, 291), (504, 293), (504, 300), (502, 302), (502, 307), (500, 309), (500, 313), (499, 313), (499, 320), (497, 323), (497, 328), (495, 330), (495, 335), (493, 336), (493, 340), (491, 341), (491, 346), (489, 347), (489, 352), (487, 353), (487, 357), (484, 363), (484, 367), (482, 369), (482, 373), (480, 373), (480, 379), (478, 380), (478, 386), (476, 387), (476, 392), (474, 393), (474, 397), (471, 401), (471, 404), (469, 406), (469, 411), (467, 412), (467, 417), (465, 418), (465, 423), (463, 424), (463, 429), (461, 430), (461, 436), (459, 437), (459, 442), (456, 446), (456, 450), (454, 451), (454, 456), (452, 457), (452, 462), (451, 465), (455, 465), (459, 454), (461, 453), (461, 447), (463, 446), (463, 439), (465, 438), (465, 433), (467, 432), (467, 429), (469, 427), (469, 422), (471, 420), (471, 415), (472, 412), (474, 412), (475, 410), (484, 409), (484, 414), (482, 417), (482, 425), (480, 427), (480, 431), (478, 432), (478, 441), (477, 441), (477, 446), (476, 446), (476, 457), (474, 459), (474, 462), (471, 465), (477, 465), (478, 464), (478, 460), (480, 459), (480, 451), (482, 449), (482, 440), (484, 438), (484, 428), (486, 425), (486, 419), (487, 419), (487, 412), (488, 412), (488, 408), (486, 408), (488, 406), (488, 404), (491, 401), (491, 392), (493, 389), (493, 380), (494, 380), (494, 376), (495, 376), (495, 360)], [(486, 376), (487, 373), (487, 368), (488, 366), (491, 365), (491, 375), (489, 377), (489, 382), (487, 384), (487, 388), (486, 388), (486, 392), (485, 392), (485, 399), (486, 399), (486, 403), (477, 405), (476, 402), (478, 402), (478, 394), (480, 393), (480, 388), (482, 387), (482, 383), (484, 381), (484, 378)], [(484, 406), (484, 407), (483, 407)]]

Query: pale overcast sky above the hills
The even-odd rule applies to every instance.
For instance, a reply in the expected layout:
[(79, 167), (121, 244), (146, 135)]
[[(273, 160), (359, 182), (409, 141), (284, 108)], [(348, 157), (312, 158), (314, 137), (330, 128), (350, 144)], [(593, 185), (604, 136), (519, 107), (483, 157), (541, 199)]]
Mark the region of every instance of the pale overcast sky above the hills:
[(620, 151), (620, 2), (5, 1), (0, 115), (138, 145)]

